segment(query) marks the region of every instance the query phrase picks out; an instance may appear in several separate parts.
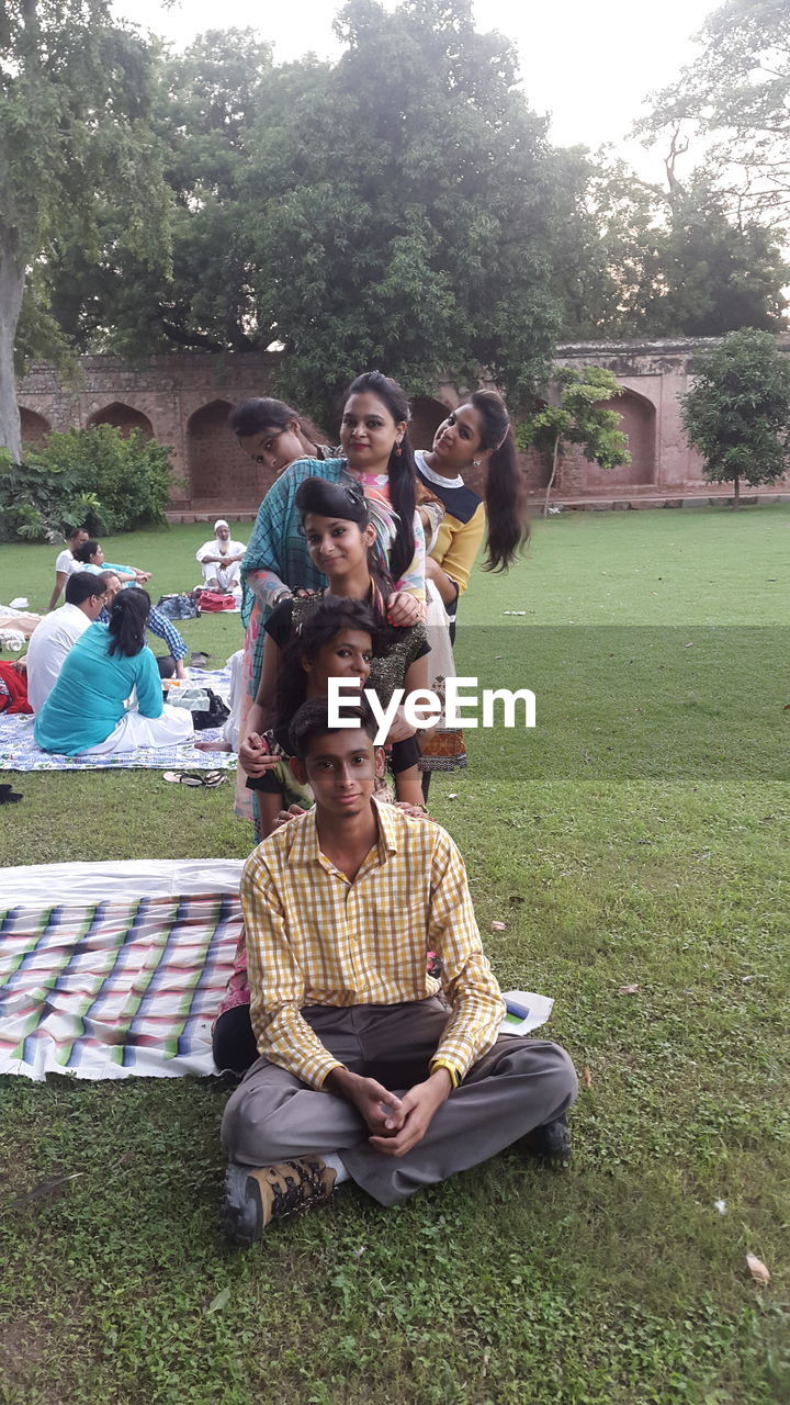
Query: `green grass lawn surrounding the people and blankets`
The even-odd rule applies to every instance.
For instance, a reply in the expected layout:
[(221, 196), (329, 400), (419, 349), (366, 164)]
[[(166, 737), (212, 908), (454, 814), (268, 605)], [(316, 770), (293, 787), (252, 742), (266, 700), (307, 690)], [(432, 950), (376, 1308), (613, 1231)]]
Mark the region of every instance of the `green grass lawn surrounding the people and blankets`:
[[(104, 547), (159, 593), (205, 535)], [(554, 995), (588, 1071), (571, 1168), (513, 1151), (396, 1211), (351, 1190), (238, 1256), (222, 1083), (3, 1079), (4, 1405), (790, 1399), (789, 548), (782, 506), (568, 514), (462, 601), (460, 672), (531, 687), (538, 726), (468, 732), (432, 806), (499, 978)], [(0, 600), (44, 606), (53, 556), (4, 547)], [(240, 641), (184, 634), (209, 666)], [(4, 778), (10, 863), (247, 851), (228, 787)]]

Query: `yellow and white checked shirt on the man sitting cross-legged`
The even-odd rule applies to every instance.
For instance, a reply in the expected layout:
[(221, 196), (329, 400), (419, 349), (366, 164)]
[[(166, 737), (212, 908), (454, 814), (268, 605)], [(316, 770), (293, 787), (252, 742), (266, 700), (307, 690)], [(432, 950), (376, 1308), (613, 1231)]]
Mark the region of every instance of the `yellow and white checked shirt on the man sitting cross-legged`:
[(245, 865), (252, 1023), (260, 1054), (312, 1087), (339, 1068), (304, 1005), (396, 1005), (434, 995), (441, 957), (453, 1014), (432, 1066), (460, 1082), (493, 1044), (505, 1003), (484, 955), (464, 861), (439, 825), (373, 801), (378, 843), (349, 882), (320, 853), (315, 809), (259, 844)]

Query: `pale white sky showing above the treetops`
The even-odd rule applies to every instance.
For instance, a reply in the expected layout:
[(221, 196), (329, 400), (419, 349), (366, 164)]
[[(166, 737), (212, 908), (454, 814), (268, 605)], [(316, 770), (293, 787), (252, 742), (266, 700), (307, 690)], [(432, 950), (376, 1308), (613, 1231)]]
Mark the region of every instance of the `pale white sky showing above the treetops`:
[[(394, 8), (395, 0), (385, 0)], [(520, 58), (530, 105), (551, 114), (551, 139), (592, 149), (611, 142), (645, 180), (661, 181), (661, 153), (628, 142), (647, 94), (671, 83), (694, 51), (693, 35), (720, 0), (475, 0), (479, 30), (499, 30)], [(332, 32), (336, 0), (115, 0), (115, 13), (184, 48), (211, 28), (253, 28), (274, 45), (276, 60), (313, 51), (340, 52)]]

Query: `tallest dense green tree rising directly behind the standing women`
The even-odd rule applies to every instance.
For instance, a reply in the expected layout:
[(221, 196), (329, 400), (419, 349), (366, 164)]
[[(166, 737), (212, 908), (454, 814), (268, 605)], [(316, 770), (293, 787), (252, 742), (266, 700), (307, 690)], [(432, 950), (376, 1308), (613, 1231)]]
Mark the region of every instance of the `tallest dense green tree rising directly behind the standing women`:
[(557, 329), (555, 188), (513, 49), (474, 30), (468, 0), (351, 0), (339, 34), (323, 91), (252, 153), (259, 320), (285, 347), (287, 388), (326, 412), (365, 365), (410, 389), (485, 367), (519, 403)]

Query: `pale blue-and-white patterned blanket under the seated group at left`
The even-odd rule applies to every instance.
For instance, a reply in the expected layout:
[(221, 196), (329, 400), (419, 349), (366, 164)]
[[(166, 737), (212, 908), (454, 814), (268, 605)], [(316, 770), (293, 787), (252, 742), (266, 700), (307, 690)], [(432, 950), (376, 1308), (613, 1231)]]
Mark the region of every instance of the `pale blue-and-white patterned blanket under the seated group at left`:
[[(231, 688), (231, 669), (187, 669), (191, 683), (205, 684), (228, 701)], [(194, 746), (141, 746), (136, 752), (124, 756), (60, 756), (55, 752), (42, 752), (35, 745), (32, 717), (7, 717), (0, 712), (0, 770), (3, 771), (84, 771), (84, 770), (160, 770), (160, 771), (194, 771), (194, 770), (228, 770), (236, 766), (233, 752), (198, 752)], [(200, 733), (202, 742), (218, 742), (222, 739), (222, 728), (207, 728)]]

